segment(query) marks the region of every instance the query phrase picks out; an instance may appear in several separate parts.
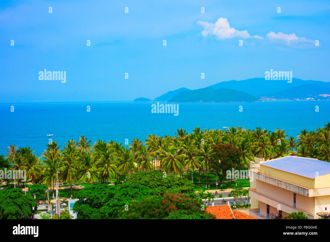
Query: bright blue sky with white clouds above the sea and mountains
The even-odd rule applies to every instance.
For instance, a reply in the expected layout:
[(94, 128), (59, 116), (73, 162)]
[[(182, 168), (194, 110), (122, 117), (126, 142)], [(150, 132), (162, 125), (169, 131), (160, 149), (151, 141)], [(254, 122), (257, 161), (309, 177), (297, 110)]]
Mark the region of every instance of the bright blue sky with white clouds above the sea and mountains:
[(0, 103), (155, 98), (270, 69), (329, 81), (329, 30), (329, 1), (3, 0)]

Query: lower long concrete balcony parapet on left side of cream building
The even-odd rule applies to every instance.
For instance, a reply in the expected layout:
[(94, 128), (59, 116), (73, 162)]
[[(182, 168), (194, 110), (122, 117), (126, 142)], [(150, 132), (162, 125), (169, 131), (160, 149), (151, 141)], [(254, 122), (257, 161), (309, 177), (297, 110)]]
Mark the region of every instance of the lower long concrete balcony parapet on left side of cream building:
[[(279, 201), (277, 201), (275, 199), (272, 199), (270, 197), (266, 197), (266, 196), (262, 195), (261, 193), (256, 192), (256, 189), (255, 188), (249, 189), (249, 196), (251, 198), (254, 198), (254, 199), (260, 201), (260, 202), (266, 203), (266, 204), (268, 204), (268, 205), (270, 205), (272, 207), (276, 207), (277, 208), (278, 205), (281, 205), (281, 210), (283, 212), (285, 212), (285, 213), (293, 213), (293, 212), (300, 212), (301, 211), (301, 210), (299, 210), (297, 208), (291, 207), (291, 206), (289, 206), (287, 204), (284, 204), (282, 202), (279, 202)], [(314, 219), (314, 215), (309, 214), (309, 213), (306, 213), (304, 211), (301, 211), (301, 212), (303, 212), (309, 219)]]

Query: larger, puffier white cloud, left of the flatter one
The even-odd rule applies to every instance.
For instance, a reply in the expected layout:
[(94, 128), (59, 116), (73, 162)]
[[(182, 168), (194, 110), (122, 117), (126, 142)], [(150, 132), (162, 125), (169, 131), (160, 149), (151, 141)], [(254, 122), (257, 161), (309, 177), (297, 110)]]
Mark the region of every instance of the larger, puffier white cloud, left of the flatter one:
[(227, 18), (220, 17), (215, 23), (209, 23), (204, 21), (198, 21), (197, 24), (202, 25), (204, 30), (202, 31), (203, 36), (208, 36), (209, 34), (215, 35), (218, 39), (228, 39), (228, 38), (249, 38), (247, 30), (239, 31), (234, 28), (230, 28)]

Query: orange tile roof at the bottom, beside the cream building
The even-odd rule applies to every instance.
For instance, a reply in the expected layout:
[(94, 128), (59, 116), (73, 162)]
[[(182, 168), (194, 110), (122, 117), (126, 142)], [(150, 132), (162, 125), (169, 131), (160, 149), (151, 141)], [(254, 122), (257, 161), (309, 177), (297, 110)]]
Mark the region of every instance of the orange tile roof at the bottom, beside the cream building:
[(206, 208), (206, 211), (214, 214), (217, 219), (255, 219), (254, 217), (240, 211), (232, 211), (229, 205), (210, 206)]

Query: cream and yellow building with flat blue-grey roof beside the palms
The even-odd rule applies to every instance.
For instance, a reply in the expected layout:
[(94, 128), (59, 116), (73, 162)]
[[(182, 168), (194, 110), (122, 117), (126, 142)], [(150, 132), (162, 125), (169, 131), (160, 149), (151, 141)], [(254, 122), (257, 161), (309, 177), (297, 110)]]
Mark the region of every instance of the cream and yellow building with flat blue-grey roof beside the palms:
[(330, 162), (298, 156), (269, 161), (254, 157), (249, 177), (249, 214), (257, 219), (299, 211), (314, 219), (330, 209)]

